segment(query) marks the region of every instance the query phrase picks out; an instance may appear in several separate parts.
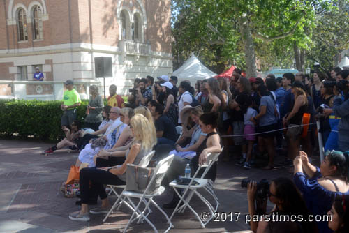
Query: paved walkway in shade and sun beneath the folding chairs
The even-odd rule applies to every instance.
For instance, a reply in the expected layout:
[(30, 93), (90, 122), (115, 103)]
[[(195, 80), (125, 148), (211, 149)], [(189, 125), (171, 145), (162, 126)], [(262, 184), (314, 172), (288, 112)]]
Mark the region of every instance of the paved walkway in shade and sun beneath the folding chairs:
[[(103, 216), (91, 216), (89, 223), (75, 222), (68, 219), (68, 214), (79, 209), (75, 206), (76, 198), (65, 198), (59, 192), (59, 186), (65, 181), (70, 165), (75, 163), (77, 153), (57, 152), (44, 156), (40, 151), (52, 146), (47, 143), (20, 140), (0, 140), (0, 232), (122, 232), (130, 211), (122, 209), (102, 222)], [(281, 156), (281, 158), (283, 158)], [(281, 160), (279, 158), (279, 160)], [(240, 183), (244, 178), (273, 179), (278, 176), (290, 176), (286, 169), (262, 171), (244, 170), (232, 163), (218, 164), (218, 177), (215, 190), (221, 205), (218, 211), (233, 212), (232, 221), (207, 224), (201, 229), (195, 216), (190, 211), (177, 214), (172, 220), (174, 229), (170, 232), (250, 232), (244, 223), (247, 213), (246, 189)], [(158, 202), (168, 202), (172, 193), (165, 193)], [(110, 198), (111, 202), (114, 197)], [(199, 200), (194, 200), (198, 213), (205, 211)], [(123, 212), (124, 211), (124, 212)], [(172, 213), (167, 211), (168, 215)], [(241, 215), (236, 220), (234, 212)], [(151, 221), (159, 232), (166, 228), (161, 213), (154, 209)], [(153, 232), (147, 223), (132, 224), (128, 232)]]

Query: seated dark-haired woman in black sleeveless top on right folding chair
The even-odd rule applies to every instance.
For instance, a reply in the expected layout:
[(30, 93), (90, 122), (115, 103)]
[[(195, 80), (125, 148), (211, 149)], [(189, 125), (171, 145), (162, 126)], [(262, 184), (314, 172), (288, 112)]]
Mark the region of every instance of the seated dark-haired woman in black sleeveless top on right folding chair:
[[(191, 165), (191, 173), (194, 174), (198, 170), (199, 165), (202, 165), (206, 162), (208, 153), (220, 153), (221, 144), (220, 137), (217, 133), (217, 120), (218, 112), (207, 112), (200, 116), (199, 125), (202, 130), (202, 133), (206, 133), (205, 140), (198, 146), (195, 150), (196, 156), (191, 160), (188, 158), (180, 158), (179, 156), (174, 156), (171, 166), (166, 172), (165, 178), (168, 182), (177, 179), (178, 176), (184, 176), (184, 170), (187, 164)], [(214, 181), (216, 179), (217, 163), (215, 162), (212, 165), (209, 172), (207, 172), (205, 179), (211, 179)], [(198, 173), (198, 176), (202, 174), (203, 170)], [(174, 208), (179, 202), (179, 197), (176, 193), (173, 195), (173, 200), (170, 203), (164, 204), (165, 209)]]

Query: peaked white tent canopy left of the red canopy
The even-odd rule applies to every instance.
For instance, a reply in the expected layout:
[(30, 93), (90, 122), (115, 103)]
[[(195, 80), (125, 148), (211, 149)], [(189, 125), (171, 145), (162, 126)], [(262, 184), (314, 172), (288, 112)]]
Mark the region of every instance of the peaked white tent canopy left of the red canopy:
[[(186, 60), (183, 66), (179, 67), (172, 74), (178, 77), (178, 80), (190, 80), (196, 82), (196, 80), (205, 80), (209, 77), (216, 76), (206, 66), (204, 66), (194, 54), (191, 54), (191, 58)], [(191, 85), (194, 83), (191, 82)]]

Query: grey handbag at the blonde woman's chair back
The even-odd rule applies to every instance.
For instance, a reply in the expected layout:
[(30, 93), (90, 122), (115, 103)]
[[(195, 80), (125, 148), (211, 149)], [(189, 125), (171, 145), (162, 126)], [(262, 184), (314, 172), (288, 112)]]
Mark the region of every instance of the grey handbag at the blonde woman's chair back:
[[(154, 167), (140, 167), (138, 165), (127, 164), (126, 167), (126, 191), (143, 193), (154, 176)], [(153, 193), (161, 186), (159, 179), (155, 179), (148, 188), (147, 193)]]

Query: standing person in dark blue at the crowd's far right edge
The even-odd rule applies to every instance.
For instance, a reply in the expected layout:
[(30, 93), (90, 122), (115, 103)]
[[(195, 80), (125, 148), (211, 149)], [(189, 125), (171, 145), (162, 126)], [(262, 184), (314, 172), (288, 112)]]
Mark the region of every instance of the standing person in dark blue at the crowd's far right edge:
[[(349, 150), (349, 72), (348, 70), (342, 70), (339, 73), (344, 80), (346, 80), (346, 85), (344, 81), (339, 81), (334, 86), (334, 101), (333, 101), (333, 112), (336, 117), (341, 117), (338, 125), (338, 146), (339, 151)], [(340, 96), (340, 92), (343, 91), (344, 101)]]

